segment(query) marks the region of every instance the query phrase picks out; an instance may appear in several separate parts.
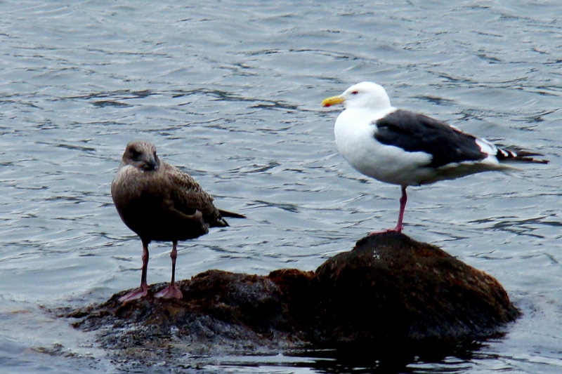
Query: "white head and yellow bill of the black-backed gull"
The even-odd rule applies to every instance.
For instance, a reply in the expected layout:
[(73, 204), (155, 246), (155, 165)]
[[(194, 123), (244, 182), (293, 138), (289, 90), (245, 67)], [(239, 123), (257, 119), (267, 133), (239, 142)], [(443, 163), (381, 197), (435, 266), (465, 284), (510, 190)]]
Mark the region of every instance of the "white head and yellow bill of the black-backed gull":
[(390, 108), (391, 100), (381, 85), (361, 82), (354, 84), (341, 95), (332, 96), (322, 101), (322, 107), (337, 104), (343, 104), (346, 109), (372, 109), (378, 112)]

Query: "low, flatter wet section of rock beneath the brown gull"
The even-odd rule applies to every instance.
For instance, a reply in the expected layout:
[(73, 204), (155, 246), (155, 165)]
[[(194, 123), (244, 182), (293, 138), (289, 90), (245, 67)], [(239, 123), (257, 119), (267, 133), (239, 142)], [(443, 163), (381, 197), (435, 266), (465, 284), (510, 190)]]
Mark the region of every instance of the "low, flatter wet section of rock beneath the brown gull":
[(129, 302), (119, 301), (122, 291), (66, 316), (79, 319), (76, 328), (97, 330), (102, 347), (141, 361), (159, 347), (183, 354), (282, 352), (303, 338), (287, 296), (267, 276), (209, 270), (177, 282), (181, 299), (152, 297), (164, 286), (151, 285), (148, 297)]

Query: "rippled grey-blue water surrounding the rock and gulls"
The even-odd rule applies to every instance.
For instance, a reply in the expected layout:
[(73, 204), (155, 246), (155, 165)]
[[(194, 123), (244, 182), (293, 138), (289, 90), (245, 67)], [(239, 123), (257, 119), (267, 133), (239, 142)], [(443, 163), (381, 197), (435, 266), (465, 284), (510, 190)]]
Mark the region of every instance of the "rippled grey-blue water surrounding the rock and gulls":
[[(154, 142), (217, 206), (249, 218), (182, 243), (178, 279), (315, 269), (393, 227), (399, 188), (348, 166), (333, 140), (339, 109), (320, 107), (364, 80), (385, 86), (397, 107), (551, 160), (410, 189), (405, 233), (495, 276), (524, 314), (469, 357), (398, 371), (560, 372), (558, 1), (364, 3), (0, 3), (3, 373), (119, 371), (91, 335), (40, 306), (86, 305), (138, 285), (141, 243), (110, 197), (129, 140)], [(152, 244), (150, 283), (169, 279), (169, 249)], [(203, 366), (363, 370), (289, 356)]]

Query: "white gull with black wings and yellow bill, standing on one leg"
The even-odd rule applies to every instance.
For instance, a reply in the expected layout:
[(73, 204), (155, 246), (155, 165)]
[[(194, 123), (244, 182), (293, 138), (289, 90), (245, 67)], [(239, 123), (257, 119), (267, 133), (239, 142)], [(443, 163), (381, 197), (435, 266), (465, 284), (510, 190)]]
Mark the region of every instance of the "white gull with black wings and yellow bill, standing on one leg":
[(510, 161), (549, 162), (532, 157), (542, 154), (502, 149), (424, 114), (397, 109), (384, 88), (372, 82), (322, 101), (322, 107), (339, 104), (344, 105), (334, 126), (339, 153), (360, 173), (402, 188), (396, 227), (382, 232), (402, 232), (408, 186), (508, 171)]

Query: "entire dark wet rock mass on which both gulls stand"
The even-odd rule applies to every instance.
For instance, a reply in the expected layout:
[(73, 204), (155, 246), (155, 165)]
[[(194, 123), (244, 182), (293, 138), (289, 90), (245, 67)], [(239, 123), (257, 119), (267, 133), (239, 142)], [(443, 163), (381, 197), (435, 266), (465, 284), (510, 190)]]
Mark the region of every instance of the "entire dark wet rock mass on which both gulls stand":
[(66, 316), (96, 330), (116, 356), (147, 360), (303, 347), (436, 352), (496, 336), (519, 314), (491, 276), (398, 233), (361, 239), (316, 272), (209, 270), (178, 282), (182, 299), (153, 298), (164, 286), (130, 302), (119, 302), (123, 291)]

